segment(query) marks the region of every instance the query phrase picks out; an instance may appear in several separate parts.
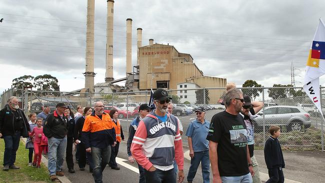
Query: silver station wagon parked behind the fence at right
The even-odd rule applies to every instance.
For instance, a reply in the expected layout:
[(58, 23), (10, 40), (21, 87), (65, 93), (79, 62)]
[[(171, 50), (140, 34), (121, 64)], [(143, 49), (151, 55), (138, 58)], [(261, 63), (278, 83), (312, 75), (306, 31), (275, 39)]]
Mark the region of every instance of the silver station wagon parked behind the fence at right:
[(263, 129), (263, 114), (265, 126), (286, 125), (287, 130), (300, 131), (302, 127), (308, 128), (311, 124), (309, 113), (298, 106), (268, 106), (264, 108), (264, 111), (259, 111), (256, 114), (258, 116), (252, 119), (256, 131)]

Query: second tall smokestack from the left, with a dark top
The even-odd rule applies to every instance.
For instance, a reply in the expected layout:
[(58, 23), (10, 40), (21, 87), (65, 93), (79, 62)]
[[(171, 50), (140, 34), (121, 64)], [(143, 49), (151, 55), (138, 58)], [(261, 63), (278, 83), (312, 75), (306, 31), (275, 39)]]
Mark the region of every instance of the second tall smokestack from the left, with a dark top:
[(107, 0), (106, 18), (106, 72), (105, 81), (112, 81), (113, 78), (113, 16), (114, 0)]

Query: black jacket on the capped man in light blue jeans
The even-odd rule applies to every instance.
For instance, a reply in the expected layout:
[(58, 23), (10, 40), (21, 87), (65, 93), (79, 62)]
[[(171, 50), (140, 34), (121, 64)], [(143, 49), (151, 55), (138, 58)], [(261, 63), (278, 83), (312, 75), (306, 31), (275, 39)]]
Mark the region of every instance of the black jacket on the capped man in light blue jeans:
[(45, 125), (43, 127), (43, 132), (48, 138), (54, 136), (55, 138), (64, 138), (67, 134), (67, 118), (63, 114), (63, 119), (54, 112), (49, 113), (45, 119)]

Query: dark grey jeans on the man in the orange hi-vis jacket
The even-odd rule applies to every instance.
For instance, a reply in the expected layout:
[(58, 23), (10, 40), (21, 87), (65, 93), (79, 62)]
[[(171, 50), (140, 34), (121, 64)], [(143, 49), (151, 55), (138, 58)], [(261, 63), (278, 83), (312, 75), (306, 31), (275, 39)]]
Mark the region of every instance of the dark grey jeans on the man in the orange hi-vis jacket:
[(108, 164), (110, 153), (110, 145), (108, 145), (106, 148), (91, 147), (91, 156), (93, 162), (92, 176), (96, 183), (102, 182), (102, 171)]

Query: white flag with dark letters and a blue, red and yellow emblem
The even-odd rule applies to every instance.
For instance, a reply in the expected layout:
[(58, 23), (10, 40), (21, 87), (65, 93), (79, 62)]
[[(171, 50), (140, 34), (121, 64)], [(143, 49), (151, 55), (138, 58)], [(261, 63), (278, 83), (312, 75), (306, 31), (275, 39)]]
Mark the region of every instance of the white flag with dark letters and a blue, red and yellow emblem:
[(319, 18), (313, 36), (304, 75), (303, 90), (320, 112), (319, 76), (325, 74), (325, 25)]

